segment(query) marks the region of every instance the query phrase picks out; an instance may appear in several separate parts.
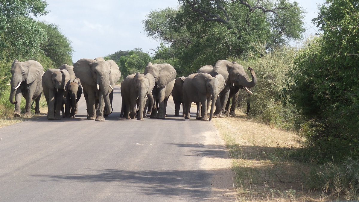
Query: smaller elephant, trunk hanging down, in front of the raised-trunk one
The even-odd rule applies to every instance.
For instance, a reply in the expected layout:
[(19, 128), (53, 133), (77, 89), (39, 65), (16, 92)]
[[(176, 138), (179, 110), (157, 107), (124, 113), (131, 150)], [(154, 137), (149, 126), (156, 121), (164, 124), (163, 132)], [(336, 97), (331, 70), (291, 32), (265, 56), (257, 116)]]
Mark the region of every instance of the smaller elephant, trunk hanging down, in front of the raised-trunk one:
[[(193, 73), (183, 82), (183, 103), (186, 109), (185, 119), (190, 119), (191, 102), (201, 103), (201, 113), (197, 113), (197, 119), (208, 120), (208, 102), (216, 103), (220, 89), (224, 88), (218, 78), (206, 73)], [(212, 120), (215, 105), (211, 105), (209, 121)]]

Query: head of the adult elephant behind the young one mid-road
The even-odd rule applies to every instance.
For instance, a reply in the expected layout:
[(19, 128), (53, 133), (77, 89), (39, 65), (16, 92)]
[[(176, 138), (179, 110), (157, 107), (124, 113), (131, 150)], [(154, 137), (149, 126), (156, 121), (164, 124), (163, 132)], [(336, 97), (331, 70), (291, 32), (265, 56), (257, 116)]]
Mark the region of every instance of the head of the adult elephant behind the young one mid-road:
[(177, 72), (172, 65), (163, 64), (152, 64), (148, 63), (145, 68), (144, 74), (150, 73), (155, 78), (157, 88), (166, 86), (169, 82), (176, 79)]

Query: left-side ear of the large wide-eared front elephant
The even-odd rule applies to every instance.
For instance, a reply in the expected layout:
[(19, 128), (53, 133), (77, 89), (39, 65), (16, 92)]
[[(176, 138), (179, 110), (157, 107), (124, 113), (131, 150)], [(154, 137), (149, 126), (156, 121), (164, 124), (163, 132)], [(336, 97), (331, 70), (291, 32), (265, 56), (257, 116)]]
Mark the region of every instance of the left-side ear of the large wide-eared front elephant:
[(74, 72), (77, 78), (80, 78), (83, 83), (90, 86), (96, 86), (91, 73), (91, 64), (96, 60), (92, 59), (80, 59), (74, 64)]

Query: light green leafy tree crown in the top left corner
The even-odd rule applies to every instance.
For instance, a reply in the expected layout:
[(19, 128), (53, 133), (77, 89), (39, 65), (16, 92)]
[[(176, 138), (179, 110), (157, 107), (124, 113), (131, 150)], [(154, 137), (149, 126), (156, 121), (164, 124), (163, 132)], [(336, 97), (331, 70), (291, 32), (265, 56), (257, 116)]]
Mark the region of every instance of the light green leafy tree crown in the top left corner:
[(46, 33), (31, 15), (46, 15), (43, 0), (0, 0), (0, 59), (34, 55)]

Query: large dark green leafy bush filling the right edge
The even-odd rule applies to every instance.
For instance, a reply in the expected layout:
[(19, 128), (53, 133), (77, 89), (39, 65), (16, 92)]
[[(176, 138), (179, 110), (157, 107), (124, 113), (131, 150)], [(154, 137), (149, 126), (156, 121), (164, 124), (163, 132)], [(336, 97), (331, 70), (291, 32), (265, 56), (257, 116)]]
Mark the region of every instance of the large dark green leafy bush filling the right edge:
[(306, 123), (301, 135), (319, 161), (359, 155), (359, 5), (327, 1), (314, 19), (323, 34), (299, 51), (288, 75), (289, 102)]

